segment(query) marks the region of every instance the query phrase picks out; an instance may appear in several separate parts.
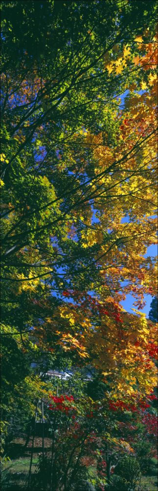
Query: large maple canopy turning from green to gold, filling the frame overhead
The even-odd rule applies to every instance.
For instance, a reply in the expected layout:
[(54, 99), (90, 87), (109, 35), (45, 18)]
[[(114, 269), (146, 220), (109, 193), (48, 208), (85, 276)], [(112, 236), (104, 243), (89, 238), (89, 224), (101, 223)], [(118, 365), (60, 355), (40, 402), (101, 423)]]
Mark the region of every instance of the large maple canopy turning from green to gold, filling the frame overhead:
[[(10, 426), (19, 397), (25, 421), (26, 396), (29, 418), (45, 398), (48, 368), (90, 366), (88, 405), (104, 390), (112, 405), (129, 404), (156, 384), (156, 328), (139, 312), (157, 288), (156, 259), (146, 257), (157, 241), (155, 11), (154, 0), (1, 3)], [(132, 314), (120, 307), (128, 293)]]

